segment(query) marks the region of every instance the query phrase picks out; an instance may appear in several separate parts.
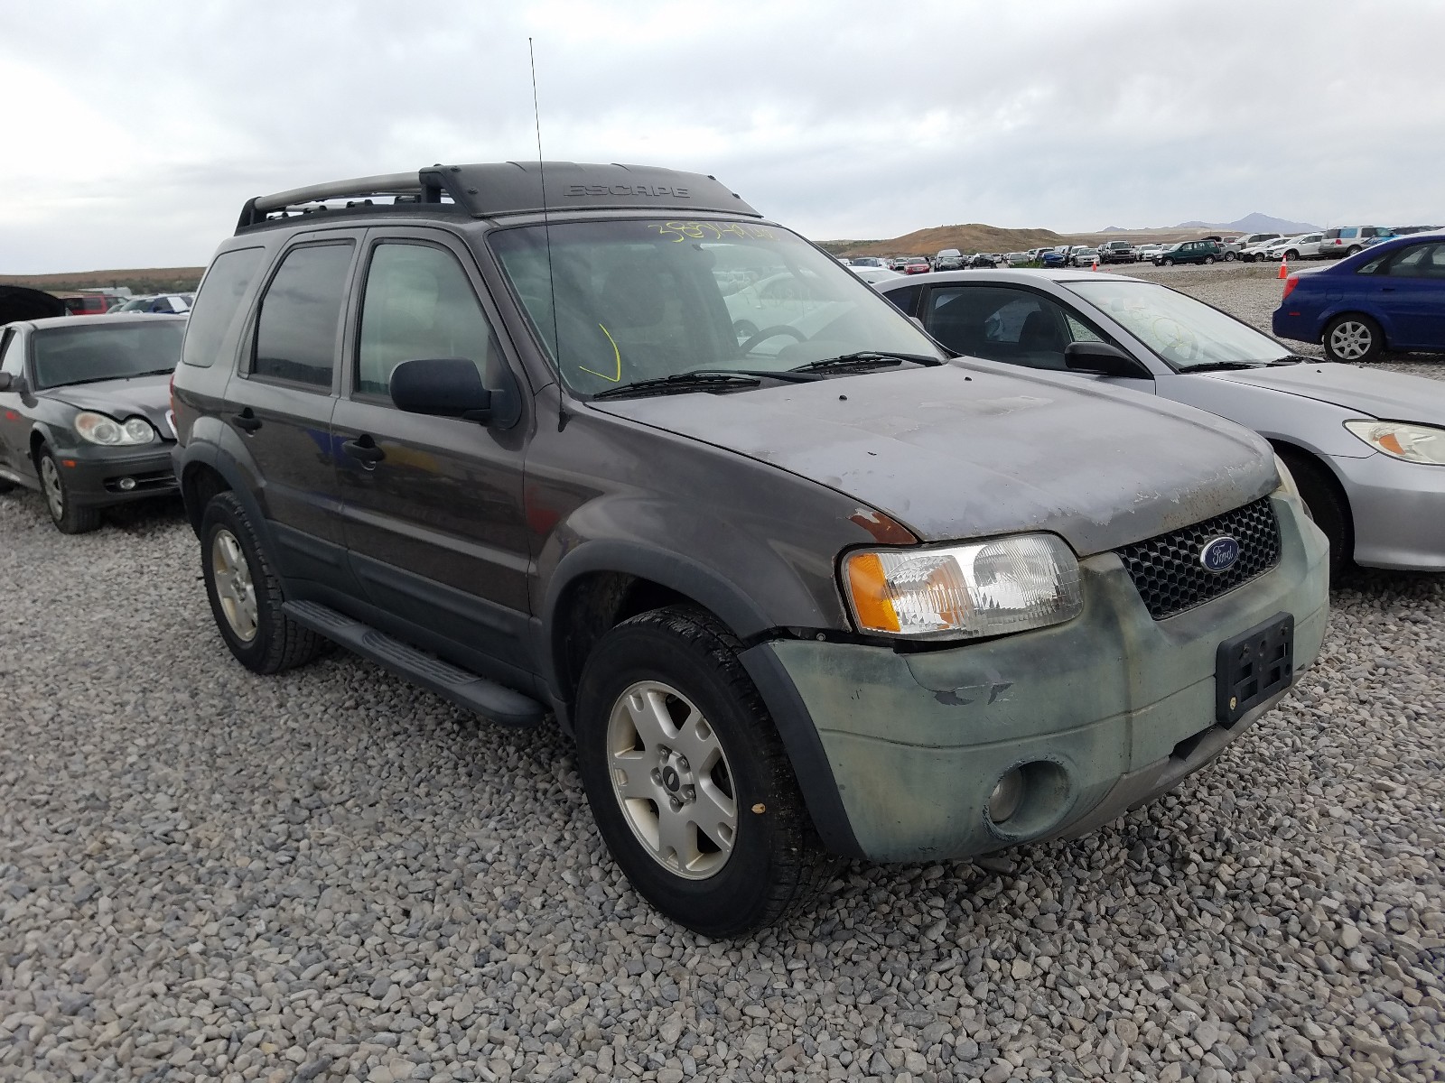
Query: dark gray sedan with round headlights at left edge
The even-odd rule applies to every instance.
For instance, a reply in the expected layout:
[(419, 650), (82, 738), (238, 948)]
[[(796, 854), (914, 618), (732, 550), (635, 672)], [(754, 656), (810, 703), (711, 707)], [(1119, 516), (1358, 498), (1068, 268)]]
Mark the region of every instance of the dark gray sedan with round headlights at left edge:
[(178, 316), (71, 316), (0, 328), (0, 492), (39, 490), (81, 534), (100, 510), (175, 492), (168, 384)]

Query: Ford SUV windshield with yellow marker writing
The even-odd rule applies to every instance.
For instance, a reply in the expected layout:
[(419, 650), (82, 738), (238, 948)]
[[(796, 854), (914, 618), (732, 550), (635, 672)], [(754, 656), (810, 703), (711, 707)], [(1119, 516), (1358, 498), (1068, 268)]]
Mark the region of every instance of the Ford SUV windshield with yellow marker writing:
[(551, 232), (551, 282), (543, 227), (488, 241), (562, 381), (581, 394), (858, 351), (942, 357), (855, 273), (776, 225), (624, 219)]

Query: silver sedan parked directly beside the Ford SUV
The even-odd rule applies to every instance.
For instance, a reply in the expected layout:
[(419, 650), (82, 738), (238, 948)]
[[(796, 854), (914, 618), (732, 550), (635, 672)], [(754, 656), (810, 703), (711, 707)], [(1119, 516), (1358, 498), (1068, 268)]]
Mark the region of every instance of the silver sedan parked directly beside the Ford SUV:
[(957, 354), (1157, 394), (1254, 429), (1329, 536), (1332, 570), (1350, 560), (1445, 570), (1442, 381), (1299, 357), (1121, 274), (993, 270), (876, 289)]

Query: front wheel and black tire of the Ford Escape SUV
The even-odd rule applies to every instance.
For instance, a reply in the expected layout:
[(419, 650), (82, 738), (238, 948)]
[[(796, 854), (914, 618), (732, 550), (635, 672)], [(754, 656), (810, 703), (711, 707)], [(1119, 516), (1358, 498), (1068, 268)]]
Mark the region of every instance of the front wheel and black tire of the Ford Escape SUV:
[(740, 644), (672, 606), (608, 631), (577, 696), (577, 761), (598, 832), (656, 910), (736, 937), (805, 904), (834, 868)]

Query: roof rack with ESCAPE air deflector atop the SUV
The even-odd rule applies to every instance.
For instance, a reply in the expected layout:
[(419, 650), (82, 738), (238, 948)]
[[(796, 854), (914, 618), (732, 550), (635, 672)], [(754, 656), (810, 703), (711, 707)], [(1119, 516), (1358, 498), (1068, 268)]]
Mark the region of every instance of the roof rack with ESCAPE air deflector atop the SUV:
[[(543, 191), (543, 178), (546, 188)], [(331, 206), (328, 201), (347, 201)], [(377, 202), (377, 201), (389, 202)], [(426, 166), (293, 188), (246, 201), (236, 231), (285, 221), (295, 214), (452, 211), (473, 218), (575, 209), (709, 211), (762, 218), (714, 176), (655, 166), (577, 162), (496, 162)]]

